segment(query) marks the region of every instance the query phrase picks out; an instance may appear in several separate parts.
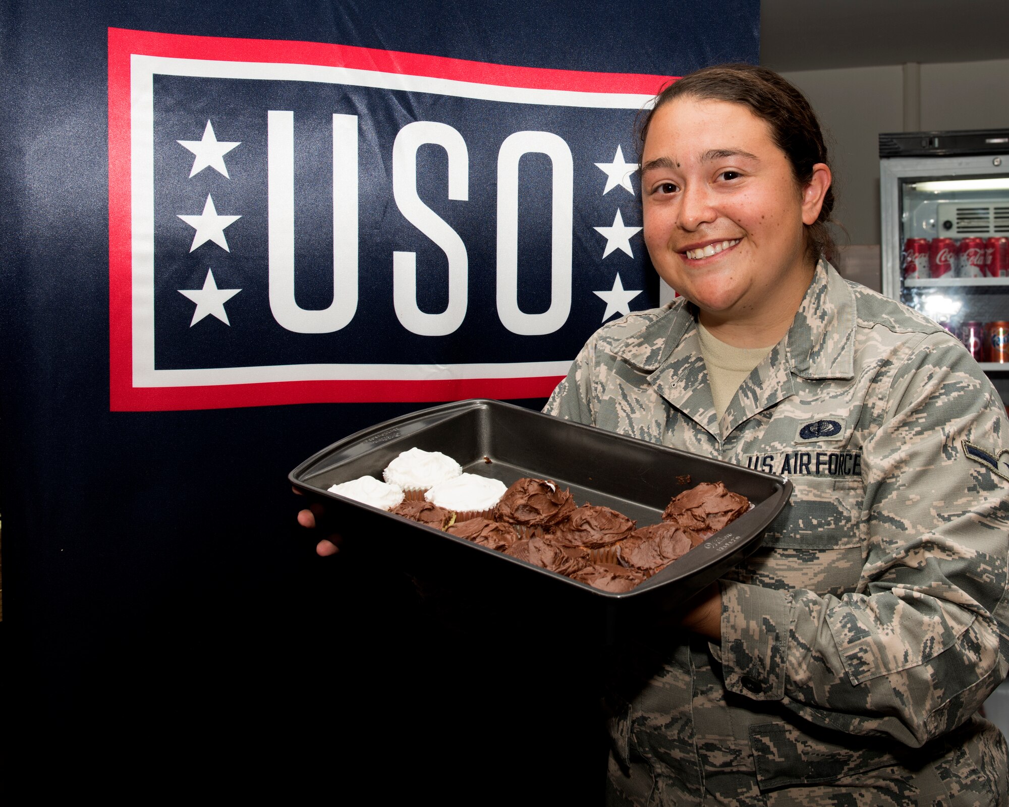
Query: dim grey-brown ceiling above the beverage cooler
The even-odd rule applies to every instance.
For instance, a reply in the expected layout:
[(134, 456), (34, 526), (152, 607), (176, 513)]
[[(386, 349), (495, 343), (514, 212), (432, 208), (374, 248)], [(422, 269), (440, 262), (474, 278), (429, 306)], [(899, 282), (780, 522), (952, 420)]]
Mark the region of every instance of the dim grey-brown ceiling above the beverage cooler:
[(760, 56), (786, 72), (1009, 59), (1009, 0), (761, 0)]

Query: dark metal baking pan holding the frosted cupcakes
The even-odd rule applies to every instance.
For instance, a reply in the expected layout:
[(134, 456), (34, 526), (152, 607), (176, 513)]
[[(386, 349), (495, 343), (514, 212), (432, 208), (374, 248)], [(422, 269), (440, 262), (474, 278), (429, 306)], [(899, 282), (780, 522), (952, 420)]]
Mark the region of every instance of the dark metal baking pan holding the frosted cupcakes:
[[(431, 527), (328, 492), (333, 484), (370, 475), (410, 448), (440, 451), (468, 473), (511, 485), (524, 476), (570, 488), (578, 504), (612, 507), (638, 522), (658, 524), (677, 493), (721, 481), (754, 507), (631, 591), (610, 593)], [(380, 570), (399, 568), (439, 585), (468, 586), (479, 596), (516, 607), (551, 608), (595, 621), (607, 638), (624, 620), (661, 616), (723, 575), (756, 550), (785, 506), (792, 483), (654, 443), (562, 421), (498, 400), (432, 407), (364, 429), (301, 463), (291, 483), (323, 501), (343, 536), (347, 561), (357, 555)]]

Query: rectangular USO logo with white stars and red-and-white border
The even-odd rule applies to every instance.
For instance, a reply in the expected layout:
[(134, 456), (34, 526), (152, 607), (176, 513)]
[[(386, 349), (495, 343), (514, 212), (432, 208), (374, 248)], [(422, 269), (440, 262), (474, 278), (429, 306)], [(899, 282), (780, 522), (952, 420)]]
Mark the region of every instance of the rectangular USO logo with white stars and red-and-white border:
[(549, 394), (657, 303), (667, 83), (111, 28), (112, 409)]

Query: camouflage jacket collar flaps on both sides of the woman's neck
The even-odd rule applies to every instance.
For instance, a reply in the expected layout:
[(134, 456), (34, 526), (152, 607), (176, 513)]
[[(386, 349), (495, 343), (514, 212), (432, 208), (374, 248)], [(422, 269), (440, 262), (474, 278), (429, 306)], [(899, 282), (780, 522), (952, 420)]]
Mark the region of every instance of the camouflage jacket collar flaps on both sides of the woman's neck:
[[(769, 358), (783, 357), (786, 366), (803, 378), (852, 378), (855, 317), (855, 293), (833, 266), (820, 260), (792, 327), (778, 344), (780, 350), (773, 350)], [(692, 307), (681, 299), (664, 316), (625, 339), (616, 355), (642, 370), (657, 370), (695, 328)]]

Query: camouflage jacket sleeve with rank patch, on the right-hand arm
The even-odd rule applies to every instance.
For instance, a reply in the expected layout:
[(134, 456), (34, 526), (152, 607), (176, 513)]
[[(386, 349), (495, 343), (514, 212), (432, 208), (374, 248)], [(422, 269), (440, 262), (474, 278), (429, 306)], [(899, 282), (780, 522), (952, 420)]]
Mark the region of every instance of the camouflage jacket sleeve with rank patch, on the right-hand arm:
[[(867, 401), (867, 407), (872, 401)], [(727, 688), (911, 746), (967, 720), (1009, 666), (1009, 422), (943, 335), (909, 349), (864, 442), (855, 592), (722, 583)]]

